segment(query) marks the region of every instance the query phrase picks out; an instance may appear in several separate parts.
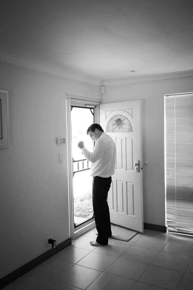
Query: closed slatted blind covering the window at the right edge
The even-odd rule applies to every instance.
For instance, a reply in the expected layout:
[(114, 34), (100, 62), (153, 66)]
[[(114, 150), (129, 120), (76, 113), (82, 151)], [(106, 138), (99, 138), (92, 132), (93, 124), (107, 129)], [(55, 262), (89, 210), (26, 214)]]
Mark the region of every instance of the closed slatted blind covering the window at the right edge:
[(193, 235), (193, 93), (165, 96), (168, 230)]

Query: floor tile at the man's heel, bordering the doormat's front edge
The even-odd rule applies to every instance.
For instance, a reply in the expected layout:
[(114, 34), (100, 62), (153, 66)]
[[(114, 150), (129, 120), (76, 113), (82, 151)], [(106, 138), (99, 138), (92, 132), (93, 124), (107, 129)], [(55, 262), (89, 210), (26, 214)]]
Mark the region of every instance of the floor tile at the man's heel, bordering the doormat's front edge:
[(107, 246), (99, 246), (94, 249), (94, 252), (120, 257), (130, 247), (130, 245), (109, 241), (109, 244)]

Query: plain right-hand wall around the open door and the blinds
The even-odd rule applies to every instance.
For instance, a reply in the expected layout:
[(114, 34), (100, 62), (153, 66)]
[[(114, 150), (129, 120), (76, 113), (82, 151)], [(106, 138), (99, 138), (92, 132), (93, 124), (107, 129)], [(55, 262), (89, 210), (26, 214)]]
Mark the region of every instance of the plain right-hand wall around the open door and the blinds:
[[(164, 94), (193, 91), (193, 77), (107, 85), (103, 103), (142, 100), (144, 222), (166, 225), (164, 183)], [(147, 164), (144, 164), (147, 161)]]

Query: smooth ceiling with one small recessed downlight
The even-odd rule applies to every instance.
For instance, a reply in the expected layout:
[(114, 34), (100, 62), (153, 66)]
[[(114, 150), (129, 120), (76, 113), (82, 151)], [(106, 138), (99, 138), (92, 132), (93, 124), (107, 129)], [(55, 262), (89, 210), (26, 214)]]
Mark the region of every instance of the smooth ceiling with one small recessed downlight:
[(192, 0), (1, 0), (0, 52), (103, 81), (192, 71)]

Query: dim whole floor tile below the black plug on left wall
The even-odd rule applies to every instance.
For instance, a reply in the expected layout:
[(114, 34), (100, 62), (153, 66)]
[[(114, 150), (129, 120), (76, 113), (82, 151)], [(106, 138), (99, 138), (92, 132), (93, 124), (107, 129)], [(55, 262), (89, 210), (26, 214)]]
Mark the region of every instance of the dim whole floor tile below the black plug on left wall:
[(68, 263), (62, 260), (48, 259), (47, 261), (32, 269), (30, 272), (41, 277), (54, 279), (72, 266), (73, 263)]

